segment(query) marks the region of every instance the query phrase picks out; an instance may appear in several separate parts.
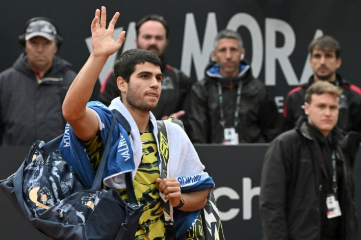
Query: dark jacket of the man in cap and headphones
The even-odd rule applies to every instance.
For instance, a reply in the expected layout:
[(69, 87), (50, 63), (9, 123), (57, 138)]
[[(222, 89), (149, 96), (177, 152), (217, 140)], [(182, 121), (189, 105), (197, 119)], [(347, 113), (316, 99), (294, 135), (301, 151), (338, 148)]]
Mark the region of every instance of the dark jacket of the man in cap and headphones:
[(62, 103), (77, 75), (70, 66), (54, 55), (52, 68), (38, 79), (22, 53), (0, 73), (0, 144), (30, 146), (64, 132)]

